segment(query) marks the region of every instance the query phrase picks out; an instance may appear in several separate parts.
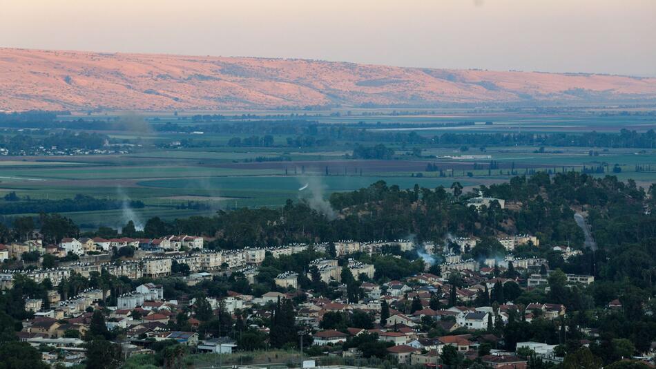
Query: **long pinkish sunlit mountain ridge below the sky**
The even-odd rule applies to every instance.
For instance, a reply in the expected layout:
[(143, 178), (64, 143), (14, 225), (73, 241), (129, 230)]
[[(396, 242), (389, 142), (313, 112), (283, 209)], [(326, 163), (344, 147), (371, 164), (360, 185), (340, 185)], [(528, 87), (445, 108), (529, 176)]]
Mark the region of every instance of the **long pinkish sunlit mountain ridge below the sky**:
[(0, 111), (656, 102), (656, 78), (0, 48)]

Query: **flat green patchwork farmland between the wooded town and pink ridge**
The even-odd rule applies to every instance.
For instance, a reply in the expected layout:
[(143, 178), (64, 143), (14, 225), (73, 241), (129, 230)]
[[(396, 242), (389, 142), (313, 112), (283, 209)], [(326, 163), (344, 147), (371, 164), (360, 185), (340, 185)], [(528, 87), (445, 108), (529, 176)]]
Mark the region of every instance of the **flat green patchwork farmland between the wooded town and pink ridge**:
[[(358, 144), (373, 146), (379, 142), (358, 141), (346, 135), (331, 140), (329, 144), (291, 146), (288, 139), (293, 140), (298, 135), (274, 132), (271, 133), (273, 144), (269, 146), (231, 146), (231, 139), (248, 140), (255, 133), (214, 130), (191, 134), (158, 128), (162, 124), (177, 124), (182, 128), (205, 127), (211, 130), (217, 124), (250, 124), (251, 120), (276, 124), (276, 120), (287, 113), (243, 112), (251, 114), (248, 119), (228, 122), (193, 121), (191, 113), (186, 117), (164, 113), (144, 115), (141, 119), (146, 129), (140, 131), (89, 130), (134, 144), (135, 149), (129, 153), (0, 156), (0, 206), (6, 202), (2, 196), (11, 192), (31, 200), (66, 199), (78, 194), (126, 202), (139, 200), (144, 207), (131, 210), (133, 217), (144, 221), (152, 216), (184, 218), (235, 207), (279, 207), (287, 199), (326, 199), (330, 193), (360, 189), (379, 180), (384, 180), (387, 185), (398, 185), (401, 189), (412, 188), (415, 184), (448, 188), (458, 181), (467, 191), (530, 171), (553, 173), (603, 167), (604, 173), (593, 175), (604, 176), (610, 172), (622, 180), (634, 179), (644, 187), (656, 182), (656, 148), (532, 145), (483, 148), (470, 145), (465, 150), (460, 144), (380, 142), (393, 152), (393, 156), (363, 160), (351, 157), (354, 147)], [(79, 118), (64, 116), (61, 122)], [(121, 115), (92, 115), (88, 119), (109, 121), (122, 118)], [(414, 132), (423, 138), (446, 132), (530, 132), (541, 135), (590, 131), (618, 133), (623, 128), (645, 132), (656, 127), (653, 113), (642, 111), (636, 115), (618, 115), (612, 109), (602, 113), (575, 111), (559, 114), (494, 110), (472, 113), (464, 109), (439, 114), (403, 114), (381, 109), (312, 112), (302, 119), (324, 126), (362, 126), (376, 134)], [(52, 132), (40, 131), (35, 137), (43, 138)], [(202, 205), (191, 206), (193, 204)], [(124, 223), (124, 213), (125, 209), (113, 209), (64, 214), (84, 228), (94, 228), (102, 225), (116, 227)], [(19, 215), (23, 214), (8, 214), (4, 219), (10, 222), (12, 217)]]

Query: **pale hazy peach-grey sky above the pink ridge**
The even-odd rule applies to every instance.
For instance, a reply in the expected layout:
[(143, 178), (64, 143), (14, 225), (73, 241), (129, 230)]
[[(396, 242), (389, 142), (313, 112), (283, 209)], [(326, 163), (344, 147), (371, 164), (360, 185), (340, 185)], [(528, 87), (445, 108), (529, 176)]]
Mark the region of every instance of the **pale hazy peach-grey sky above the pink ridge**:
[(656, 0), (3, 0), (0, 47), (656, 76)]

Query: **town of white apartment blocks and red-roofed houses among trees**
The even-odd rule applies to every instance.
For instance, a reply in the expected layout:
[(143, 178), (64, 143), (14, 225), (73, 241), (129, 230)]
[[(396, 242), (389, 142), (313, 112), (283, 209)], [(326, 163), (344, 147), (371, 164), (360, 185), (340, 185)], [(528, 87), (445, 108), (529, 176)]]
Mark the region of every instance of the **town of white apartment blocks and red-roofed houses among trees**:
[[(562, 363), (560, 346), (518, 341), (515, 350), (505, 350), (508, 338), (502, 341), (503, 327), (512, 321), (530, 323), (535, 319), (563, 325), (566, 308), (563, 304), (510, 301), (523, 291), (548, 291), (557, 287), (555, 283), (563, 283), (560, 288), (590, 285), (595, 279), (551, 270), (543, 258), (514, 258), (509, 254), (501, 259), (463, 260), (465, 249), (480, 242), (476, 238), (452, 238), (444, 245), (416, 244), (412, 240), (343, 240), (219, 252), (204, 249), (204, 242), (200, 236), (182, 235), (155, 239), (63, 238), (57, 245), (44, 245), (38, 239), (9, 243), (0, 246), (3, 261), (20, 260), (30, 253), (41, 255), (41, 264), (48, 255), (60, 260), (75, 255), (75, 261), (60, 262), (57, 267), (28, 263), (30, 267), (24, 270), (4, 270), (0, 287), (8, 290), (17, 283), (23, 285), (25, 278), (46, 286), (42, 299), (24, 300), (25, 310), (33, 317), (21, 322), (17, 335), (21, 341), (45, 350), (44, 361), (49, 363), (81, 363), (85, 354), (80, 348), (90, 330), (113, 332), (127, 355), (153, 353), (156, 343), (170, 341), (193, 352), (231, 354), (253, 343), (211, 333), (204, 328), (209, 319), (202, 316), (207, 314), (204, 308), (209, 316), (228, 314), (231, 319), (248, 323), (248, 328), (241, 323), (241, 330), (271, 334), (273, 328), (264, 321), (271, 319), (284, 301), (293, 301), (293, 325), (307, 334), (308, 355), (339, 354), (348, 362), (358, 357), (392, 359), (422, 366), (477, 360), (492, 368), (526, 368), (528, 361), (536, 358)], [(499, 238), (498, 242), (509, 252), (519, 245), (539, 245), (537, 238), (528, 235)], [(131, 250), (128, 257), (113, 258), (125, 254), (121, 251), (124, 249)], [(381, 278), (373, 264), (351, 257), (388, 254), (401, 258), (401, 254), (416, 249), (421, 249), (429, 262), (422, 261), (421, 270), (400, 279), (385, 278), (384, 273)], [(580, 254), (567, 247), (554, 247), (554, 251), (566, 258)], [(307, 264), (307, 275), (285, 270), (272, 276), (273, 288), (262, 294), (227, 290), (220, 297), (182, 294), (173, 298), (156, 282), (158, 278), (175, 276), (181, 283), (195, 286), (227, 276), (253, 285), (262, 281), (260, 269), (262, 273), (268, 269), (263, 266), (271, 264), (268, 258), (307, 255), (321, 256)], [(442, 262), (436, 264), (437, 258)], [(133, 290), (88, 283), (104, 276), (151, 282)], [(79, 279), (87, 283), (71, 288)], [(307, 283), (331, 286), (336, 293), (328, 298), (329, 294), (322, 294), (322, 287), (307, 289)], [(351, 292), (352, 288), (356, 291)], [(608, 301), (608, 309), (621, 309), (621, 303), (617, 299)], [(98, 321), (104, 326), (93, 327)], [(588, 345), (595, 330), (581, 327), (579, 331), (587, 332), (581, 335), (580, 345)]]

